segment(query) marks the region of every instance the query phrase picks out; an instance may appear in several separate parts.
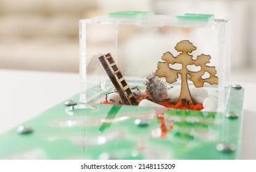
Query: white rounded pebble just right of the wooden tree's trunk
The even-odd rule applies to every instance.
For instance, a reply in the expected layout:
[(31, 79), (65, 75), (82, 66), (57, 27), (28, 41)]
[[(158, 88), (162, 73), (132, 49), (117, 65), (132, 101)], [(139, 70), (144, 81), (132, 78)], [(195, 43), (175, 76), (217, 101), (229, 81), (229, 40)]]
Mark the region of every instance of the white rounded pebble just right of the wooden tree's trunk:
[(194, 104), (202, 104), (208, 96), (205, 88), (189, 87), (189, 90)]

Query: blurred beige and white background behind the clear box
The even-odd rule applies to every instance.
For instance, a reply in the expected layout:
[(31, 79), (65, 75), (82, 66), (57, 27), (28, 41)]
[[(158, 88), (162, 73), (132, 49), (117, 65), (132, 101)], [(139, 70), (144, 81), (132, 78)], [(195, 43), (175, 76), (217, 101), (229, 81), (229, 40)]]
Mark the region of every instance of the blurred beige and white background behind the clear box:
[(121, 10), (231, 19), (232, 72), (256, 74), (254, 0), (1, 0), (0, 68), (78, 72), (78, 20)]

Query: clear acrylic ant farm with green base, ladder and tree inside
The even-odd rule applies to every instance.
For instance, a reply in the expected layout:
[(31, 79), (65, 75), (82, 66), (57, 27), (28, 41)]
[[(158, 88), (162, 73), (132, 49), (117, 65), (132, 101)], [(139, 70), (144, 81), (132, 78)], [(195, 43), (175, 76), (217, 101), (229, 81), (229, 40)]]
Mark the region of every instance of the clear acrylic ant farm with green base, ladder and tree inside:
[(0, 158), (239, 158), (244, 88), (229, 83), (230, 41), (229, 20), (209, 14), (80, 20), (80, 93), (29, 120), (35, 132), (0, 137), (20, 144)]

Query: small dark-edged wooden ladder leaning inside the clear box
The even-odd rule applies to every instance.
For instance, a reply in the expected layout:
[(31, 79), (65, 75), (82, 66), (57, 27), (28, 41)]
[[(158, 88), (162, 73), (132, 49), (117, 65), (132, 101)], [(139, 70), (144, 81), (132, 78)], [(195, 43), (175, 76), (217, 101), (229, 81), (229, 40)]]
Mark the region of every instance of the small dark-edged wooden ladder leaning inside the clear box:
[(105, 72), (107, 72), (107, 75), (109, 76), (112, 84), (115, 86), (115, 89), (120, 95), (123, 103), (138, 105), (135, 96), (131, 92), (131, 88), (127, 84), (125, 77), (123, 77), (112, 55), (110, 53), (102, 55), (101, 57), (99, 57), (99, 61), (101, 61)]

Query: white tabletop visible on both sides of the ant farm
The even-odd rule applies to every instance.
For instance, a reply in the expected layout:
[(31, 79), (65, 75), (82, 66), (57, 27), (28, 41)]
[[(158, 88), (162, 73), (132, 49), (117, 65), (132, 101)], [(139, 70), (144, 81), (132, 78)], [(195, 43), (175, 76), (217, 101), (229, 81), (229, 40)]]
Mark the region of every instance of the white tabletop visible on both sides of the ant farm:
[[(240, 75), (240, 76), (239, 76)], [(242, 159), (256, 159), (256, 77), (241, 72), (231, 84), (246, 89), (242, 129)], [(78, 74), (0, 69), (0, 136), (79, 92)], [(250, 82), (248, 82), (250, 80)]]

